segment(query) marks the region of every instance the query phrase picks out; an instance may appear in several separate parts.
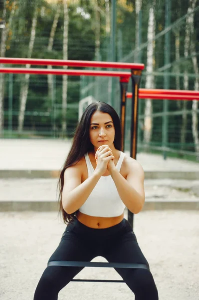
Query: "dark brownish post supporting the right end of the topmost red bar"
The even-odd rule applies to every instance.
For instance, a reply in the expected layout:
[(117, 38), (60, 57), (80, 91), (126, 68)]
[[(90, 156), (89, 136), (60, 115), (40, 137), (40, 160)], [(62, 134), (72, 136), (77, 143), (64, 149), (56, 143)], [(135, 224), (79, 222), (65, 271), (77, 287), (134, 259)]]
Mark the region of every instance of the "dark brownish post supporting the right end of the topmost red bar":
[[(142, 70), (131, 71), (132, 78), (132, 111), (131, 111), (131, 150), (130, 156), (136, 159), (137, 154), (137, 132), (138, 132), (138, 91)], [(134, 214), (128, 210), (128, 221), (133, 228)]]

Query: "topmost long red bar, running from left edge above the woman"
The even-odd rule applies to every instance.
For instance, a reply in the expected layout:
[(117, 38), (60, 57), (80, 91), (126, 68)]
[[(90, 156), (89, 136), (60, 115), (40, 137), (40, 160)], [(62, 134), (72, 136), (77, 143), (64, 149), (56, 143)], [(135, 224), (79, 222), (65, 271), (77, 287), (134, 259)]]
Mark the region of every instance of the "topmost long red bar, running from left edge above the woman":
[(0, 63), (12, 64), (38, 64), (38, 65), (68, 65), (79, 67), (111, 67), (143, 70), (144, 63), (89, 61), (89, 60), (63, 60), (63, 59), (37, 59), (37, 58), (11, 58), (0, 57)]

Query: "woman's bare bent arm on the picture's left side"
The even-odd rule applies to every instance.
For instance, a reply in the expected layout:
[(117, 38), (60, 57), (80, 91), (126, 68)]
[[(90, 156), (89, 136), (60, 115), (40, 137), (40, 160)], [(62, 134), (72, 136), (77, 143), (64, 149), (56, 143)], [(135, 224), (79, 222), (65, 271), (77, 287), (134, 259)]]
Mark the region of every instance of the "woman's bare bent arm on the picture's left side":
[(101, 174), (94, 172), (81, 183), (81, 167), (73, 165), (68, 167), (64, 172), (64, 186), (62, 192), (63, 209), (71, 214), (78, 210), (86, 201), (93, 188), (97, 184)]

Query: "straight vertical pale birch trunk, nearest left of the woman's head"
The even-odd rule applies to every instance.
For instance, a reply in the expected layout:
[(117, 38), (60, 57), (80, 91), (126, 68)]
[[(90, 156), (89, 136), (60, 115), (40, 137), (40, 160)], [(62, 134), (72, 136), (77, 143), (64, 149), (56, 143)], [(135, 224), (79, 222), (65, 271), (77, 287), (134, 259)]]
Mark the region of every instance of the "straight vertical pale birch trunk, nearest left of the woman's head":
[[(64, 24), (63, 24), (63, 59), (68, 59), (68, 3), (63, 0)], [(67, 66), (63, 66), (67, 68)], [(63, 75), (62, 85), (62, 137), (66, 136), (66, 112), (67, 112), (67, 75)]]

